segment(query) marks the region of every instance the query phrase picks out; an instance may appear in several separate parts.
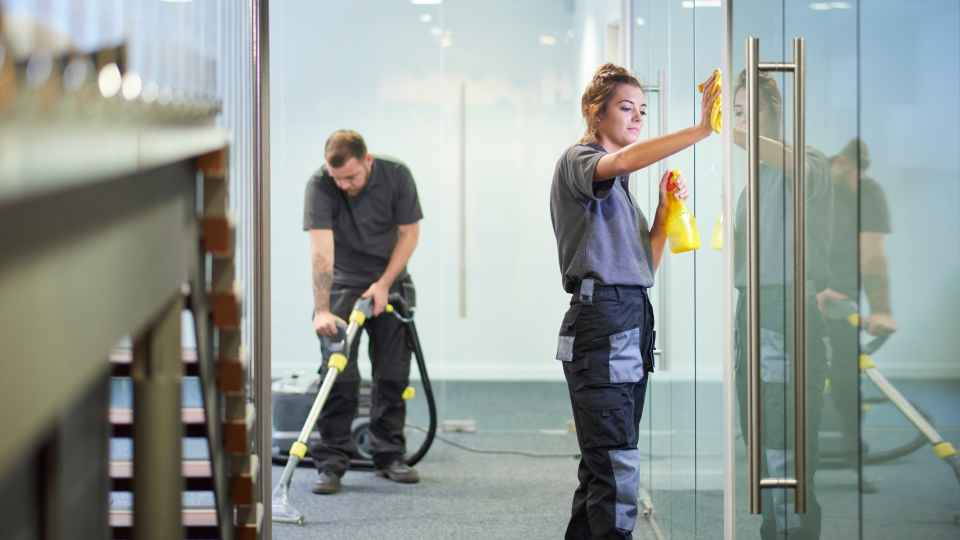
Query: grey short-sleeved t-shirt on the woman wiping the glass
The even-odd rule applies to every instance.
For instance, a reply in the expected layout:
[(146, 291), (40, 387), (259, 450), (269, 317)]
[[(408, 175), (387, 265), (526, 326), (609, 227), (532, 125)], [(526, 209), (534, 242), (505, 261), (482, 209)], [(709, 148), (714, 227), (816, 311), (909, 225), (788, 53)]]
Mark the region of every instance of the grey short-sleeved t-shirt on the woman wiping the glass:
[(568, 148), (550, 187), (563, 289), (592, 278), (600, 285), (653, 286), (650, 229), (628, 189), (628, 176), (594, 182), (599, 144)]

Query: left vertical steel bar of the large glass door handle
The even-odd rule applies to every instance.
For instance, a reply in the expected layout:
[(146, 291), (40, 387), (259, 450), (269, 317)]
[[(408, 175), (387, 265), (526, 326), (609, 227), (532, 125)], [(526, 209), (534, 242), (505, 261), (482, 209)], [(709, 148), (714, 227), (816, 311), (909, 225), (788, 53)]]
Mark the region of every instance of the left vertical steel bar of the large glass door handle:
[(760, 513), (760, 40), (747, 44), (747, 485)]

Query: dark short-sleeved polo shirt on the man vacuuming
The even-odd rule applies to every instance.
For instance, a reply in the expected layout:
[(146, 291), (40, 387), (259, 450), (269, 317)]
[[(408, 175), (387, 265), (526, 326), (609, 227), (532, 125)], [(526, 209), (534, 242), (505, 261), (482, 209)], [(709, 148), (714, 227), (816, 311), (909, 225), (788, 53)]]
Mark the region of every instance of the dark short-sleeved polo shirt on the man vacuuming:
[[(303, 230), (333, 230), (333, 282), (366, 289), (380, 279), (400, 238), (398, 225), (423, 219), (417, 186), (402, 162), (374, 156), (370, 182), (356, 197), (324, 165), (307, 182)], [(407, 277), (404, 268), (397, 280)]]

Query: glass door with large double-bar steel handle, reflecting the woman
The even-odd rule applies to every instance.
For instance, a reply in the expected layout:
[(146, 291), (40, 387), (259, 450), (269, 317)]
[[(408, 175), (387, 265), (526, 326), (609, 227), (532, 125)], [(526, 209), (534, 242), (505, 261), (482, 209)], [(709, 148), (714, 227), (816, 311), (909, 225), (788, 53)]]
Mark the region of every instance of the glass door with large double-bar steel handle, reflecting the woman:
[(733, 524), (738, 538), (856, 538), (856, 355), (834, 356), (829, 325), (858, 306), (818, 304), (836, 268), (857, 266), (856, 227), (838, 226), (856, 196), (834, 196), (827, 157), (858, 133), (856, 10), (748, 0), (728, 16)]

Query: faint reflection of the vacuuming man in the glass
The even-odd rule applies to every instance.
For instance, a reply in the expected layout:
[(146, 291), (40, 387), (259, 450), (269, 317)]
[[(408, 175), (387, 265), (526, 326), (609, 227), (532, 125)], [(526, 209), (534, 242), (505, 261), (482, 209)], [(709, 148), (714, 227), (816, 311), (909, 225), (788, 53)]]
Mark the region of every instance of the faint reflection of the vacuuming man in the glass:
[[(832, 160), (834, 232), (829, 264), (833, 277), (830, 288), (818, 295), (820, 310), (827, 316), (833, 349), (830, 392), (840, 413), (842, 451), (850, 457), (853, 467), (857, 466), (857, 424), (860, 420), (857, 379), (860, 370), (858, 331), (847, 317), (858, 311), (858, 282), (862, 283), (870, 304), (870, 315), (860, 321), (866, 326), (867, 333), (886, 336), (897, 331), (897, 323), (890, 315), (887, 255), (883, 247), (883, 237), (890, 233), (890, 213), (883, 188), (864, 174), (869, 166), (867, 146), (859, 139), (852, 139)], [(871, 484), (864, 483), (864, 491), (874, 490)]]

